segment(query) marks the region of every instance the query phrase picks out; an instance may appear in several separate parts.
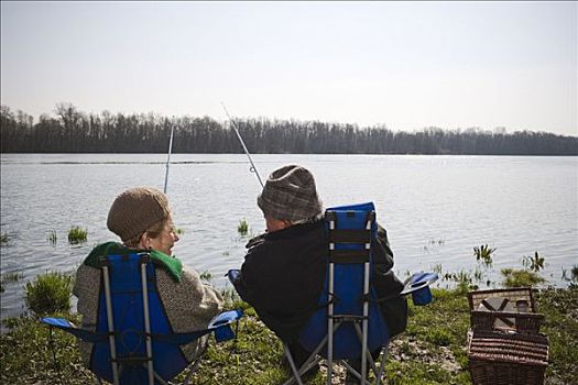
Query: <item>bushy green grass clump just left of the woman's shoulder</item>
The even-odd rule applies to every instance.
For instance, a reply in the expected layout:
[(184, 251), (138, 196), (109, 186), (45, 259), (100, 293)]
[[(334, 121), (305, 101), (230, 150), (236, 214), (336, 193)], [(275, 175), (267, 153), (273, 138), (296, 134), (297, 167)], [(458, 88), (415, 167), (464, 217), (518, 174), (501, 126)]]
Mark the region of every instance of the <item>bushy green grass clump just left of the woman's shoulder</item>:
[(48, 315), (70, 310), (73, 276), (59, 272), (37, 275), (26, 283), (25, 301), (35, 315)]

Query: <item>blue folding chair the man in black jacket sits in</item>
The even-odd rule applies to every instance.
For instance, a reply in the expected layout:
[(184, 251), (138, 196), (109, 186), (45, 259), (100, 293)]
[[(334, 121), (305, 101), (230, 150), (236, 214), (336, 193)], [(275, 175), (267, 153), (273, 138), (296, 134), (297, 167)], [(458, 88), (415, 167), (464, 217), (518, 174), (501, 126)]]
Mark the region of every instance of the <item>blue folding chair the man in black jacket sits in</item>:
[[(301, 367), (286, 344), (284, 353), (290, 362), (293, 376), (284, 385), (297, 382), (303, 385), (302, 375), (318, 361), (327, 360), (327, 384), (331, 384), (334, 362), (342, 363), (357, 376), (361, 384), (368, 381), (368, 363), (375, 375), (375, 383), (382, 384), (385, 354), (382, 354), (379, 370), (371, 352), (386, 350), (390, 341), (388, 324), (379, 308), (378, 298), (371, 285), (372, 251), (378, 226), (373, 204), (361, 204), (329, 208), (325, 212), (329, 250), (328, 272), (325, 289), (319, 298), (319, 309), (299, 336), (299, 343), (310, 353)], [(415, 305), (432, 301), (429, 285), (437, 279), (434, 273), (418, 273), (410, 277), (400, 295), (413, 295)], [(361, 362), (360, 372), (346, 360)]]

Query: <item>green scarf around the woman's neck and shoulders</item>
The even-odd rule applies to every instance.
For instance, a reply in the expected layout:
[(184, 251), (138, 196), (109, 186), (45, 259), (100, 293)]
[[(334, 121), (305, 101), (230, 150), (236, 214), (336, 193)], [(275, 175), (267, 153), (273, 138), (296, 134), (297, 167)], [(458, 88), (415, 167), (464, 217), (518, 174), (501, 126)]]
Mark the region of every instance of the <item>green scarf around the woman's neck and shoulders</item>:
[(134, 253), (149, 253), (155, 266), (165, 270), (175, 282), (181, 282), (181, 275), (183, 274), (183, 263), (177, 257), (166, 255), (159, 250), (130, 249), (118, 242), (106, 242), (97, 245), (95, 249), (92, 249), (90, 254), (88, 254), (84, 264), (98, 268), (100, 267), (99, 257), (101, 256)]

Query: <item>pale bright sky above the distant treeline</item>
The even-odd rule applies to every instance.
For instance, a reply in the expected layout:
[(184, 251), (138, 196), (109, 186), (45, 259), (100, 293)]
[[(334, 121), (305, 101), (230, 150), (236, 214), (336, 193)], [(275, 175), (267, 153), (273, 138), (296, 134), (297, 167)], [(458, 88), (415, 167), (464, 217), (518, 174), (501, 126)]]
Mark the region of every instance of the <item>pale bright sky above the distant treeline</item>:
[(578, 136), (578, 2), (1, 2), (1, 103)]

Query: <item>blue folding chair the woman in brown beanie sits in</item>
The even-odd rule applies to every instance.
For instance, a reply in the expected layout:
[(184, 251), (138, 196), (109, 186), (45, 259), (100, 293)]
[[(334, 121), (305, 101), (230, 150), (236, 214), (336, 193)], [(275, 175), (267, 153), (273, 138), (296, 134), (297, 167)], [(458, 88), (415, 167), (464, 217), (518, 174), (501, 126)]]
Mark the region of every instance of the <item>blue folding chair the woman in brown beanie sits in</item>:
[[(159, 293), (153, 263), (146, 253), (101, 257), (102, 289), (99, 295), (96, 331), (76, 328), (63, 318), (41, 321), (92, 343), (89, 369), (100, 380), (114, 385), (167, 385), (192, 364), (181, 345), (215, 333), (217, 342), (235, 338), (231, 323), (241, 310), (215, 317), (207, 329), (173, 333)], [(204, 346), (206, 349), (206, 345)]]

